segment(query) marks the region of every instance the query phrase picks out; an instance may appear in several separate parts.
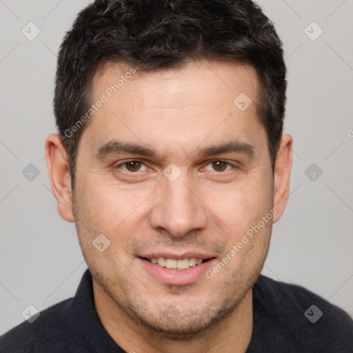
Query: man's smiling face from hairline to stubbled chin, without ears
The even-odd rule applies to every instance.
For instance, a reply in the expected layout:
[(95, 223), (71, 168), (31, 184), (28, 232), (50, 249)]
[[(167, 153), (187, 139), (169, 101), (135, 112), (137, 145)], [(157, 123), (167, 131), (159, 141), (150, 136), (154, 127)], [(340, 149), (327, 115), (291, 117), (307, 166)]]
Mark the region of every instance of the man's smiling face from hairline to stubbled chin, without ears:
[(232, 313), (268, 252), (276, 210), (258, 81), (224, 62), (128, 70), (111, 65), (92, 84), (92, 102), (108, 99), (79, 142), (79, 241), (94, 290), (119, 312), (193, 334)]

